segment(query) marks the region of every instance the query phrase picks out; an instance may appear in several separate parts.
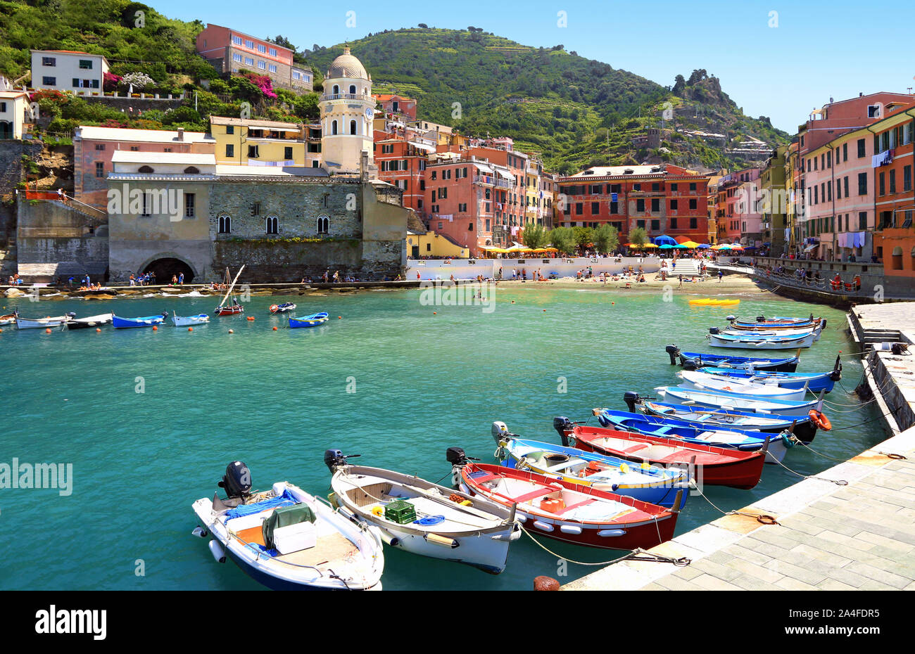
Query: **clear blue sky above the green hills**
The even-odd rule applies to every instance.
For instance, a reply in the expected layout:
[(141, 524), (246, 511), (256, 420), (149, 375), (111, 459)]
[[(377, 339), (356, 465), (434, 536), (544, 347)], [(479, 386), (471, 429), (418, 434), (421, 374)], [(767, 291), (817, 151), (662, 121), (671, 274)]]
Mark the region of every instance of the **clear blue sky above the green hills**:
[[(833, 0), (680, 2), (293, 2), (153, 0), (173, 18), (215, 23), (296, 48), (331, 46), (399, 27), (482, 27), (534, 47), (563, 44), (582, 57), (673, 86), (678, 73), (705, 69), (744, 113), (769, 116), (789, 133), (814, 107), (859, 92), (915, 86), (915, 4)], [(348, 12), (355, 27), (348, 27)], [(566, 27), (558, 27), (565, 12)], [(777, 16), (770, 16), (777, 12)], [(778, 27), (770, 27), (777, 21)], [(359, 54), (354, 53), (354, 54)], [(422, 112), (422, 106), (420, 107)]]

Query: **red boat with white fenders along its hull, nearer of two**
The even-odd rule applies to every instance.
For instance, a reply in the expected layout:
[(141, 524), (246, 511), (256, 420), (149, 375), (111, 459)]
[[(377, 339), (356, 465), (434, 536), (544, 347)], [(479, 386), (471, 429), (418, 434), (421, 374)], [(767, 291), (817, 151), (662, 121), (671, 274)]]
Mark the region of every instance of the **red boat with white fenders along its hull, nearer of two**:
[(532, 534), (587, 547), (647, 549), (670, 541), (677, 522), (675, 509), (530, 470), (467, 463), (460, 469), (460, 486), (470, 495), (514, 507), (515, 519)]

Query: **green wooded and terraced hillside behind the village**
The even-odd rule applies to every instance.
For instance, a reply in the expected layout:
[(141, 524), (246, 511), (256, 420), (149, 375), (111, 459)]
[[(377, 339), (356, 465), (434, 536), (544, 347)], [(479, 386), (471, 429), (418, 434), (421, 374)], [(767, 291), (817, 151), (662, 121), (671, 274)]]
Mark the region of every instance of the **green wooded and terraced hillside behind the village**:
[[(206, 130), (210, 114), (238, 115), (241, 102), (274, 120), (317, 118), (317, 93), (264, 90), (256, 75), (221, 80), (195, 51), (203, 27), (202, 20), (172, 20), (128, 0), (0, 0), (0, 74), (27, 83), (32, 48), (85, 50), (105, 55), (114, 75), (147, 75), (152, 82), (145, 92), (197, 95), (196, 109), (188, 101), (142, 118), (100, 102), (46, 97), (40, 104), (42, 115), (54, 119), (45, 125), (51, 135), (67, 134), (79, 123)], [(283, 37), (273, 40), (292, 45)], [(727, 153), (738, 141), (753, 137), (774, 147), (788, 140), (768, 119), (745, 116), (705, 70), (665, 87), (562, 45), (531, 48), (477, 27), (405, 28), (349, 45), (370, 71), (375, 91), (413, 96), (421, 118), (463, 134), (511, 136), (560, 173), (643, 161), (737, 167), (762, 158)], [(341, 44), (296, 52), (299, 64), (316, 71), (316, 91), (321, 73), (342, 50)], [(648, 127), (665, 130), (659, 146), (639, 142)], [(709, 141), (684, 130), (722, 136)]]

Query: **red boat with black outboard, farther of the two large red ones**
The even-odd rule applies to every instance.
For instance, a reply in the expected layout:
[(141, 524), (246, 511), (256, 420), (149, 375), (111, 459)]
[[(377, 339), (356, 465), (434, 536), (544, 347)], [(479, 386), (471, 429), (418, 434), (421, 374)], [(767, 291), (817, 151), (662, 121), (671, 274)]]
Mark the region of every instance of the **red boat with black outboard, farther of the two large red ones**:
[[(604, 427), (587, 427), (567, 420), (554, 420), (563, 443), (585, 452), (619, 456), (652, 466), (694, 466), (690, 477), (699, 485), (753, 488), (759, 484), (766, 448), (752, 452), (726, 449), (714, 445), (686, 443), (678, 438), (620, 432)], [(561, 430), (561, 431), (560, 431)]]

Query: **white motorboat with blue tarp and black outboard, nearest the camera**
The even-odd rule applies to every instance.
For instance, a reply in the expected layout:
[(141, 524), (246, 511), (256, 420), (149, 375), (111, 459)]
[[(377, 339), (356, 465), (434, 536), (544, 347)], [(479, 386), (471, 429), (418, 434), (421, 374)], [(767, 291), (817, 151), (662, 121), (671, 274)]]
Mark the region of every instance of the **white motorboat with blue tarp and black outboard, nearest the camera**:
[(210, 552), (226, 557), (255, 581), (276, 590), (381, 590), (381, 533), (350, 519), (327, 500), (288, 482), (252, 493), (241, 461), (226, 468), (219, 486), (228, 498), (193, 503), (195, 535), (212, 536)]

